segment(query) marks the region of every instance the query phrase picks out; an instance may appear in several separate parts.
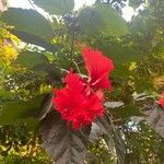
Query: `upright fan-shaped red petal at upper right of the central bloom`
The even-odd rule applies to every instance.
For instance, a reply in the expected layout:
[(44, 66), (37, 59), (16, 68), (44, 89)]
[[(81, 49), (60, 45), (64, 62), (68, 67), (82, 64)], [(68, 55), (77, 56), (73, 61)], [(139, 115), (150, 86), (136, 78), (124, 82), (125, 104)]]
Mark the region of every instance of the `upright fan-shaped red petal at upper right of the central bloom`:
[(96, 89), (112, 89), (108, 74), (114, 70), (113, 61), (105, 57), (101, 51), (92, 48), (84, 48), (82, 56), (90, 77), (90, 83)]

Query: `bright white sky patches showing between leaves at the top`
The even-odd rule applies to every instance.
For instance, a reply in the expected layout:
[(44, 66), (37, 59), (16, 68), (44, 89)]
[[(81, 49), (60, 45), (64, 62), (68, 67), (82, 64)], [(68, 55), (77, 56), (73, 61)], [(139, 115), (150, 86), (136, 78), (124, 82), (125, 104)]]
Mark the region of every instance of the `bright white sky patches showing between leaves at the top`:
[[(74, 0), (74, 2), (75, 2), (74, 9), (78, 10), (83, 4), (91, 5), (94, 1), (95, 0)], [(32, 8), (28, 0), (9, 0), (9, 5), (14, 7), (14, 8), (24, 8), (24, 9)], [(126, 21), (130, 21), (133, 14), (136, 14), (136, 13), (132, 8), (126, 7), (122, 9), (122, 16), (125, 17)]]

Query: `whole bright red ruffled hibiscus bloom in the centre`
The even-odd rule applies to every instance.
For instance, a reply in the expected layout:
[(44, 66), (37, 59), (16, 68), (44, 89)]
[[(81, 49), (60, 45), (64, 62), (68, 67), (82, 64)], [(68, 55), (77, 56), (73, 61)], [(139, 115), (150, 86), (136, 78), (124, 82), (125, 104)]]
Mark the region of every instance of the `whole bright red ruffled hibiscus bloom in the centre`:
[(90, 125), (97, 116), (103, 116), (103, 90), (112, 89), (108, 75), (114, 70), (113, 61), (98, 50), (86, 47), (82, 57), (89, 72), (87, 80), (71, 69), (65, 78), (66, 86), (54, 90), (55, 109), (61, 114), (62, 119), (72, 124), (74, 130)]

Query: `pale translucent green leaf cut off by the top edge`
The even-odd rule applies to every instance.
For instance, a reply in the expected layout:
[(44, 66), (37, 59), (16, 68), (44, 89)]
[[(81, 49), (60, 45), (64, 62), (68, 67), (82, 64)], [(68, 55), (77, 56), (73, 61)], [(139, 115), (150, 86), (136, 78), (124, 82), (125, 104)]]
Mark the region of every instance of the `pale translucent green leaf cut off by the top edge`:
[(34, 3), (43, 8), (50, 14), (63, 15), (74, 8), (74, 0), (33, 0)]

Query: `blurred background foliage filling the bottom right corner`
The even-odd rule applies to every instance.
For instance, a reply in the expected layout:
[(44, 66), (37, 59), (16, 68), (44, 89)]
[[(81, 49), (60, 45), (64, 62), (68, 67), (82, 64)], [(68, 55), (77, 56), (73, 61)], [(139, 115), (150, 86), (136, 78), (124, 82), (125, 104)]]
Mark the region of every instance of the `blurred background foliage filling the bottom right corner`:
[(163, 163), (163, 147), (161, 145), (164, 144), (164, 140), (145, 122), (134, 124), (134, 128), (128, 126), (125, 128), (125, 136), (129, 152), (127, 163)]

